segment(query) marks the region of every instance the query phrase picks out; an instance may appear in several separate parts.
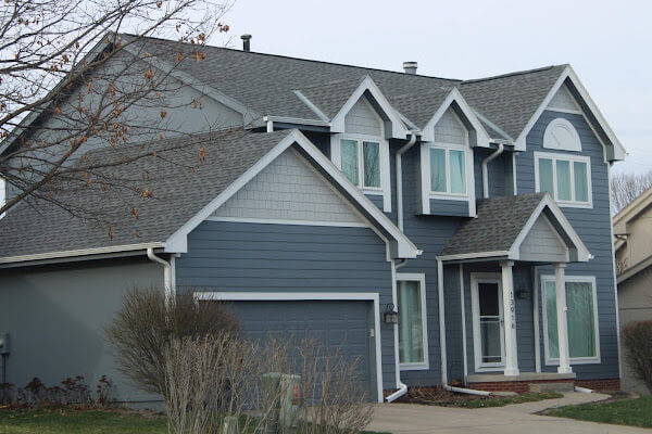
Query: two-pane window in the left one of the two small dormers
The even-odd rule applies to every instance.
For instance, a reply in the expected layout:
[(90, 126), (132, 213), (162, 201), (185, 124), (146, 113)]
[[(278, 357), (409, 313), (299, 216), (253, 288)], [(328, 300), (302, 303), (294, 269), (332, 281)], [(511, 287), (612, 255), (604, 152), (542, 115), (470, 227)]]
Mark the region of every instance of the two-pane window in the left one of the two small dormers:
[(355, 186), (380, 190), (380, 143), (340, 139), (340, 167)]

